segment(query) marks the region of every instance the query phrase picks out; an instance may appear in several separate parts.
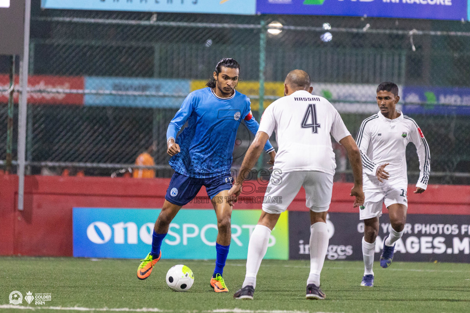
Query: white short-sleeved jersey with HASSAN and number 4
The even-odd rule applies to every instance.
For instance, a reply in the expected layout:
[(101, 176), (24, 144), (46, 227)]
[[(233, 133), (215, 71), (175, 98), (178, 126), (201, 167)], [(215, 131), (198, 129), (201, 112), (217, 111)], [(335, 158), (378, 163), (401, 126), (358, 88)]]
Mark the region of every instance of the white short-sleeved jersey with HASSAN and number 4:
[(319, 171), (335, 174), (335, 153), (330, 134), (337, 142), (350, 133), (329, 101), (299, 90), (266, 108), (258, 131), (276, 132), (279, 149), (274, 169), (282, 173)]

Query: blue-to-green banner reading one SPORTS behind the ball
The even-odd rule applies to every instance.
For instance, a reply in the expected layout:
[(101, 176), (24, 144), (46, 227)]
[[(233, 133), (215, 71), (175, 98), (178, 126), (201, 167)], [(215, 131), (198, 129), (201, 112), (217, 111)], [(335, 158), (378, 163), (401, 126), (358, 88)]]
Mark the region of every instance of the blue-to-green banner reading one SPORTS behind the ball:
[[(73, 208), (73, 256), (143, 258), (150, 252), (160, 209)], [(246, 259), (251, 232), (261, 210), (232, 212), (228, 259)], [(182, 209), (162, 244), (164, 259), (215, 259), (217, 218), (214, 210)], [(289, 257), (288, 213), (281, 214), (271, 233), (266, 259)]]

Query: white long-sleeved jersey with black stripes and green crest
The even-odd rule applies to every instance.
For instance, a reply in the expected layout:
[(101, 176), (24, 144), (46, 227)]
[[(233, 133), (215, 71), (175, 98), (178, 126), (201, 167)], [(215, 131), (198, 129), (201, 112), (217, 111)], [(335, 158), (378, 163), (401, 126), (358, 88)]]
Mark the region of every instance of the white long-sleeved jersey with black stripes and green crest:
[[(360, 125), (356, 142), (362, 155), (364, 191), (387, 191), (392, 187), (407, 188), (406, 146), (412, 142), (419, 158), (420, 175), (416, 187), (426, 189), (431, 171), (429, 146), (418, 124), (400, 111), (400, 116), (390, 120), (382, 113), (366, 118)], [(379, 182), (377, 168), (385, 163), (390, 178)]]

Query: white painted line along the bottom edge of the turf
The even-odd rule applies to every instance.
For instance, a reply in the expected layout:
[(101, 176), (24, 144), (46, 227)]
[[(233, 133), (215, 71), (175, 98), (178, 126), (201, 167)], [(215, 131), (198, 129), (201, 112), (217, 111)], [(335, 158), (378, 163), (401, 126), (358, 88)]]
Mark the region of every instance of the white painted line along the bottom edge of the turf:
[(109, 312), (185, 312), (185, 313), (328, 313), (328, 312), (309, 312), (309, 311), (286, 311), (286, 310), (242, 310), (242, 309), (217, 309), (208, 311), (186, 311), (186, 310), (161, 310), (158, 308), (146, 308), (141, 309), (130, 309), (127, 307), (121, 308), (91, 308), (81, 306), (23, 306), (23, 305), (12, 305), (4, 304), (0, 305), (0, 309), (19, 309), (19, 310), (65, 310), (65, 311), (109, 311)]

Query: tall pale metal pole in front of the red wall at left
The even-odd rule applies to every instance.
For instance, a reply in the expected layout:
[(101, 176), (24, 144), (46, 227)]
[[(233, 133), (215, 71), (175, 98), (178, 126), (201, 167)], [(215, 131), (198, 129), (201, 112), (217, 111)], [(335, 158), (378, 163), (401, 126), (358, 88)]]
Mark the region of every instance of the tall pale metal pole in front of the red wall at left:
[(18, 107), (18, 210), (23, 211), (24, 204), (24, 160), (26, 152), (26, 108), (28, 106), (28, 64), (29, 33), (31, 20), (31, 0), (24, 5), (24, 41), (21, 62), (20, 86), (21, 97)]

